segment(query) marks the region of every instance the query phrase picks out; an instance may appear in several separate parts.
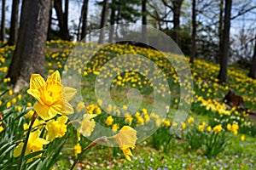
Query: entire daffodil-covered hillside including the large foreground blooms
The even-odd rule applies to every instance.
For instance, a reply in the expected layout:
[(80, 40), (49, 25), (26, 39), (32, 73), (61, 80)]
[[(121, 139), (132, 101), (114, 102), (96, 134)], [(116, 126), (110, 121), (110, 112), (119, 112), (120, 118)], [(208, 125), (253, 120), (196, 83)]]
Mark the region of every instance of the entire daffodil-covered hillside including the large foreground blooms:
[[(229, 83), (220, 85), (218, 65), (197, 59), (192, 86), (154, 49), (57, 40), (47, 42), (48, 77), (29, 75), (29, 87), (14, 94), (5, 77), (14, 49), (0, 48), (0, 169), (256, 167), (255, 118), (222, 101), (233, 89), (256, 111), (256, 80), (246, 71), (230, 66)], [(178, 56), (166, 55), (183, 70)], [(176, 122), (184, 105), (189, 113)]]

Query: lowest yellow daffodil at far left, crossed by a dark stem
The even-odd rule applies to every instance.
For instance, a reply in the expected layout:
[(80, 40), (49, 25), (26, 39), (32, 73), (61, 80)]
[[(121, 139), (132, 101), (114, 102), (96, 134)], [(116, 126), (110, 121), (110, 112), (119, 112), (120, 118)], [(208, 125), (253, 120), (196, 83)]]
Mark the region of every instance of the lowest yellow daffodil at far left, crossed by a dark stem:
[[(49, 144), (48, 140), (39, 138), (41, 131), (37, 130), (34, 132), (31, 132), (27, 141), (26, 145), (26, 152), (25, 155), (29, 154), (30, 152), (35, 152), (38, 150), (43, 150), (44, 144)], [(14, 156), (18, 157), (21, 154), (21, 150), (23, 148), (24, 142), (20, 142), (14, 150)]]

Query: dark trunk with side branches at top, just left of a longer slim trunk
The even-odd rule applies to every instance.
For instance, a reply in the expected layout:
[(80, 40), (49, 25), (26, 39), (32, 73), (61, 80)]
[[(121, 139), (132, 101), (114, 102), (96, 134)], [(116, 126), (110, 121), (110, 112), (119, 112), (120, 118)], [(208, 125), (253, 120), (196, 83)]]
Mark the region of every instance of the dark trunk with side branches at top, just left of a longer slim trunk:
[(183, 0), (173, 0), (173, 40), (179, 45), (179, 25), (180, 25), (180, 13)]

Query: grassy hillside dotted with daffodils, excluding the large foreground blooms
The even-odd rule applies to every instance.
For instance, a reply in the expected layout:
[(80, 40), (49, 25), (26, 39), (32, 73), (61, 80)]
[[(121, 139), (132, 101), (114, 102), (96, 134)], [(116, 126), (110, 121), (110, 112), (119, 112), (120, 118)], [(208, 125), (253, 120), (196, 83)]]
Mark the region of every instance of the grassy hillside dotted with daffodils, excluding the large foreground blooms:
[[(24, 132), (32, 119), (32, 111), (27, 109), (31, 110), (35, 102), (26, 94), (26, 89), (14, 94), (9, 87), (9, 78), (5, 77), (14, 49), (8, 46), (0, 48), (1, 168), (17, 166), (14, 162), (19, 158), (12, 153), (20, 139), (25, 139)], [(119, 148), (98, 145), (82, 156), (79, 167), (253, 169), (256, 166), (254, 117), (239, 108), (229, 108), (222, 101), (224, 95), (233, 89), (241, 95), (248, 109), (256, 111), (256, 80), (248, 78), (247, 71), (230, 66), (229, 82), (220, 85), (216, 79), (218, 65), (195, 59), (195, 65), (190, 67), (192, 84), (187, 80), (182, 82), (179, 72), (186, 68), (180, 56), (154, 49), (125, 44), (102, 48), (54, 41), (47, 42), (45, 55), (46, 74), (59, 70), (65, 85), (79, 89), (79, 98), (72, 102), (75, 112), (69, 116), (66, 134), (44, 145), (47, 151), (34, 158), (34, 164), (27, 162), (26, 167), (34, 169), (40, 161), (51, 159), (54, 161), (48, 161), (48, 167), (69, 169), (76, 157), (75, 145), (84, 148), (91, 139), (114, 135), (125, 125), (137, 129), (140, 141), (132, 150), (132, 162), (125, 160)], [(189, 78), (189, 74), (184, 77)], [(106, 88), (104, 84), (109, 80), (111, 82)], [(183, 95), (181, 89), (187, 95)], [(112, 104), (105, 98), (108, 93)], [(193, 94), (193, 98), (189, 94)], [(189, 112), (184, 114), (186, 121), (175, 122), (175, 116), (179, 114), (177, 111), (185, 105), (190, 106)], [(94, 120), (107, 130), (102, 132), (96, 127), (89, 139), (83, 135), (79, 139), (73, 122), (85, 112), (96, 114)], [(38, 121), (41, 121), (38, 122), (40, 137), (45, 138), (46, 122), (40, 118)], [(37, 127), (34, 128), (36, 130)], [(178, 130), (174, 132), (175, 129)], [(58, 147), (61, 151), (56, 149)]]

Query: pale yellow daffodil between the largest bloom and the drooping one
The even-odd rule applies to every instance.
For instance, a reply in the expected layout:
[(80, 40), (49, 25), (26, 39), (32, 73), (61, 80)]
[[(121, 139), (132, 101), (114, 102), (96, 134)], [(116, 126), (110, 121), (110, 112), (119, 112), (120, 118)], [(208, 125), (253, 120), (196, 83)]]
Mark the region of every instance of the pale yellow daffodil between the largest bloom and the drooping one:
[(78, 128), (79, 133), (82, 133), (84, 137), (89, 137), (93, 132), (96, 122), (93, 118), (96, 114), (84, 114), (84, 119), (80, 122), (80, 127)]

